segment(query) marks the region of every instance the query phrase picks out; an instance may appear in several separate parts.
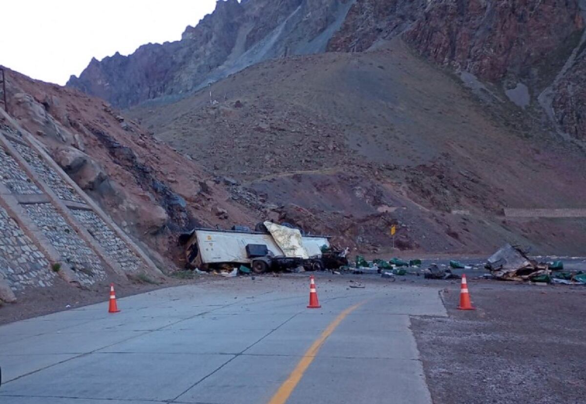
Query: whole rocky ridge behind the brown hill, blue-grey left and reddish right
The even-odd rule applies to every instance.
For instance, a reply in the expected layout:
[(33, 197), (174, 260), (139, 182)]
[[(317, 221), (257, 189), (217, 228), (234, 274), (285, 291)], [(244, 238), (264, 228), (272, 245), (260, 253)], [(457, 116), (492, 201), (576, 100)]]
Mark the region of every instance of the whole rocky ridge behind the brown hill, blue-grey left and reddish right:
[[(129, 107), (183, 95), (263, 60), (363, 52), (401, 36), (415, 52), (545, 112), (586, 139), (582, 0), (226, 0), (177, 42), (91, 60), (69, 86)], [(506, 99), (506, 98), (505, 98)]]

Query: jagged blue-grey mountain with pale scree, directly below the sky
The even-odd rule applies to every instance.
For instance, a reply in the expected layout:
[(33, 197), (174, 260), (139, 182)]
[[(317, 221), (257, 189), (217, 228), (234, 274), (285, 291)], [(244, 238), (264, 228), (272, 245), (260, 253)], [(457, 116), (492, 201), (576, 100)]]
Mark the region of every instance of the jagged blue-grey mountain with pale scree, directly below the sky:
[(177, 42), (91, 60), (68, 85), (127, 107), (205, 86), (261, 60), (323, 52), (352, 0), (227, 0)]

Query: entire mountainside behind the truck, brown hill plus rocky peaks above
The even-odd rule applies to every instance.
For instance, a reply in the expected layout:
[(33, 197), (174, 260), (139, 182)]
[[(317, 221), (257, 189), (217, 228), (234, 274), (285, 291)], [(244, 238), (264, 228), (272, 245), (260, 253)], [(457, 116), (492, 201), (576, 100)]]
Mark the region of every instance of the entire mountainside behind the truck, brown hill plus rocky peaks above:
[(360, 251), (399, 224), (401, 250), (570, 253), (584, 35), (579, 0), (229, 0), (69, 86), (228, 178), (257, 217)]

